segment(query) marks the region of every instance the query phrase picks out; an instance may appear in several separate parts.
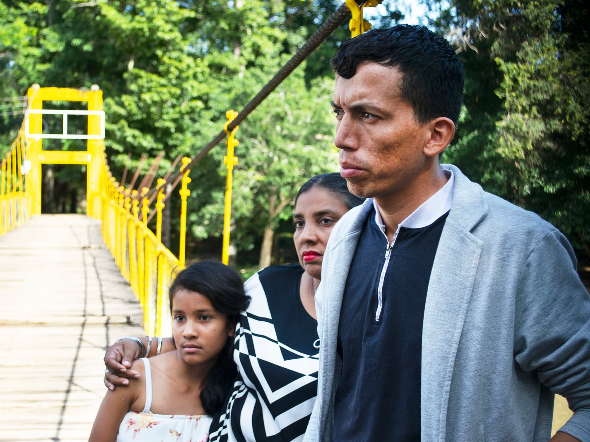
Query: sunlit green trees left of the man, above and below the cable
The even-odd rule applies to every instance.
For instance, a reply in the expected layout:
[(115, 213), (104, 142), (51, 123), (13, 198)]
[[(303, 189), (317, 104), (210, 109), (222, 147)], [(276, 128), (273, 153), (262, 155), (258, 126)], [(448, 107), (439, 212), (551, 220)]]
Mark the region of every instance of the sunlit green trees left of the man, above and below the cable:
[[(24, 95), (33, 83), (98, 84), (114, 175), (120, 178), (129, 166), (129, 183), (142, 153), (153, 159), (164, 151), (162, 176), (176, 156), (193, 156), (217, 135), (225, 111), (240, 110), (340, 3), (3, 0), (0, 97)], [(307, 178), (337, 166), (327, 105), (333, 78), (329, 58), (348, 37), (346, 27), (335, 32), (240, 125), (232, 232), (240, 250), (260, 245), (265, 230), (274, 233), (279, 221), (290, 217), (294, 193)], [(0, 121), (0, 129), (14, 132), (21, 120)], [(74, 144), (54, 148), (77, 149)], [(221, 145), (191, 172), (189, 244), (221, 235), (224, 155)], [(82, 172), (76, 172), (79, 181)], [(52, 173), (54, 189), (70, 195), (75, 173), (69, 168)], [(172, 232), (178, 229), (176, 194), (168, 203)]]

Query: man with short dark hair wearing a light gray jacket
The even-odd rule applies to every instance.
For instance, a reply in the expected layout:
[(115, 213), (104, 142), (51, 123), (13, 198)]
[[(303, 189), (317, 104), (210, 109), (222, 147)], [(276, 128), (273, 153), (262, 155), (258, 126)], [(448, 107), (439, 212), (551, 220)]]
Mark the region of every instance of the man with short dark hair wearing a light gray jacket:
[(330, 236), (305, 441), (547, 441), (553, 394), (590, 441), (590, 299), (565, 237), (440, 165), (463, 68), (424, 27), (333, 59), (341, 174), (368, 197)]

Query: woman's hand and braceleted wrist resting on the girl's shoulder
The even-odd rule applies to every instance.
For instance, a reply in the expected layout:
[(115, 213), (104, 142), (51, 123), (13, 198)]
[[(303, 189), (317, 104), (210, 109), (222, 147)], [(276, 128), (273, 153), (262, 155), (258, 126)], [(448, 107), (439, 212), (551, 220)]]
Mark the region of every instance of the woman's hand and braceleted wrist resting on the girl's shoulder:
[[(148, 338), (139, 338), (143, 342), (145, 348), (148, 347)], [(158, 339), (152, 338), (152, 345), (150, 347), (149, 356), (155, 356), (158, 347)], [(162, 339), (162, 349), (160, 353), (166, 353), (174, 350), (174, 344), (171, 338)], [(139, 373), (136, 370), (131, 370), (133, 361), (143, 358), (142, 353), (137, 342), (132, 339), (122, 339), (115, 342), (107, 348), (104, 354), (104, 365), (107, 367), (107, 372), (104, 374), (104, 385), (109, 390), (114, 390), (115, 385), (129, 385), (129, 378), (139, 378)]]

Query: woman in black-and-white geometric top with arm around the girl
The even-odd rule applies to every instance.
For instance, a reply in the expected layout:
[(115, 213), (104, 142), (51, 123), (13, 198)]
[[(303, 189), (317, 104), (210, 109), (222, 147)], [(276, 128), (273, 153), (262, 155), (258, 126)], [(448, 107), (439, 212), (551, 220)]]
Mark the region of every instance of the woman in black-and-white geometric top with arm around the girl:
[[(293, 240), (300, 265), (271, 266), (245, 282), (245, 292), (252, 301), (236, 328), (238, 377), (225, 410), (211, 424), (211, 441), (303, 438), (317, 394), (319, 342), (314, 295), (323, 253), (336, 222), (362, 202), (348, 191), (346, 180), (338, 173), (317, 175), (297, 193)], [(171, 340), (165, 339), (162, 352), (173, 349)], [(139, 344), (130, 339), (107, 350), (107, 387), (128, 382), (112, 372), (137, 376), (127, 368), (129, 359), (143, 356), (140, 352)]]

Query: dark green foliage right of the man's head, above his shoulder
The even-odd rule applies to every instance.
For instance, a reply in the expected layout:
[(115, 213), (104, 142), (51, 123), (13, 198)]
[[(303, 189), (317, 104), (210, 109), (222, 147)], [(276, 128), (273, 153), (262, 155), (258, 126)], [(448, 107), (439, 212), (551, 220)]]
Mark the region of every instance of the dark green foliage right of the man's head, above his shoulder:
[(590, 45), (581, 1), (451, 1), (466, 96), (445, 160), (590, 256)]

